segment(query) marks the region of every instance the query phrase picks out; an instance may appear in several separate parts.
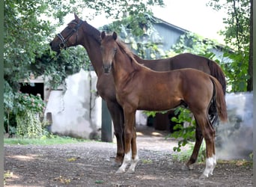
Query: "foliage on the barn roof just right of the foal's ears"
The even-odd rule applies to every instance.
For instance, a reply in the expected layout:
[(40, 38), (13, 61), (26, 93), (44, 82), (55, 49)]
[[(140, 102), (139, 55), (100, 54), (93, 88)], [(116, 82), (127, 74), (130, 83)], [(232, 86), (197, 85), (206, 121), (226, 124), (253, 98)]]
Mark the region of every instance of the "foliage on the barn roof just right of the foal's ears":
[(105, 25), (102, 30), (118, 31), (122, 40), (128, 43), (138, 56), (144, 59), (156, 59), (164, 56), (165, 52), (159, 47), (162, 38), (153, 28), (153, 22), (157, 20), (152, 13), (140, 13)]

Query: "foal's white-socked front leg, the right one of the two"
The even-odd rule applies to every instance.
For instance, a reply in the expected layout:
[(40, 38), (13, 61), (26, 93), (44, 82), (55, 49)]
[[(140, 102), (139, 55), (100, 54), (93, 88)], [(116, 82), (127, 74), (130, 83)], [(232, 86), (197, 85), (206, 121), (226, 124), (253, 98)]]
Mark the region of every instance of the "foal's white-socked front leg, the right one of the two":
[(136, 143), (136, 127), (135, 124), (133, 126), (133, 132), (132, 132), (132, 164), (129, 166), (128, 173), (134, 173), (135, 167), (138, 163), (138, 153), (137, 153), (137, 143)]

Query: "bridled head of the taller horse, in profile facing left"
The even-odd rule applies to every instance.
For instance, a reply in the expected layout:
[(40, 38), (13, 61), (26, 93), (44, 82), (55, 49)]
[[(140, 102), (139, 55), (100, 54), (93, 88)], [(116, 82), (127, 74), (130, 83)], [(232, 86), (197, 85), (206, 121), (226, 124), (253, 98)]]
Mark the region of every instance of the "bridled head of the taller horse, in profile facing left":
[(81, 28), (83, 21), (76, 16), (76, 13), (74, 15), (75, 19), (67, 24), (67, 27), (49, 43), (53, 51), (60, 52), (61, 49), (77, 46), (79, 45), (79, 40), (82, 40), (82, 34), (79, 34), (79, 32), (82, 32), (82, 29), (79, 28)]

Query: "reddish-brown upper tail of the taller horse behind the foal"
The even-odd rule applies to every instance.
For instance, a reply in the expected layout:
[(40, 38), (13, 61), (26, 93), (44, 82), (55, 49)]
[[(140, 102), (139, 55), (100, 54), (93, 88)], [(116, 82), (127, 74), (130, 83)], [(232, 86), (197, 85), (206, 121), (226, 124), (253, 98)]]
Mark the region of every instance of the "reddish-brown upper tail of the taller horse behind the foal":
[(214, 76), (219, 81), (219, 83), (222, 85), (222, 90), (225, 95), (227, 85), (226, 85), (225, 74), (222, 71), (222, 68), (219, 67), (219, 64), (217, 64), (215, 61), (211, 61), (210, 59), (207, 59), (207, 60), (208, 60), (208, 66), (210, 68), (210, 75)]

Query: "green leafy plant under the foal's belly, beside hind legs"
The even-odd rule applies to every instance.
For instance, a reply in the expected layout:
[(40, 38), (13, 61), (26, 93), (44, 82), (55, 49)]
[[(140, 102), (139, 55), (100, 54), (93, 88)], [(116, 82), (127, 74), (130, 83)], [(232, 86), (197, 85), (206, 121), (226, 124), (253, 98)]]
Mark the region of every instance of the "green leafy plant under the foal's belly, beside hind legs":
[[(189, 141), (195, 141), (195, 120), (192, 119), (191, 112), (182, 107), (175, 109), (174, 114), (178, 117), (172, 117), (171, 121), (176, 122), (174, 132), (171, 133), (173, 138), (181, 138), (178, 141), (178, 146), (174, 147), (174, 151), (180, 152), (180, 147), (186, 146)], [(183, 123), (189, 123), (189, 126), (184, 127)]]

